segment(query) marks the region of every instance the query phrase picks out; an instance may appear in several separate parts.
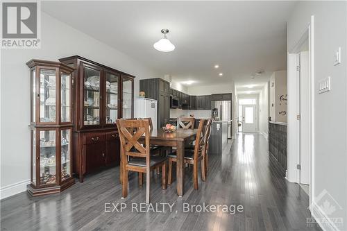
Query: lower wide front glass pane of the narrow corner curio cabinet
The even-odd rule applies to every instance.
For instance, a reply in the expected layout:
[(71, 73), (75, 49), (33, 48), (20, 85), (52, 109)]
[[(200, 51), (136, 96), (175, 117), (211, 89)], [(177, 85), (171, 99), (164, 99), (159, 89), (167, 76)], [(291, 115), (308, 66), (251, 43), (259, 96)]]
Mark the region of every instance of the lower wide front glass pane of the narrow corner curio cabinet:
[(56, 130), (40, 130), (40, 185), (56, 184)]

